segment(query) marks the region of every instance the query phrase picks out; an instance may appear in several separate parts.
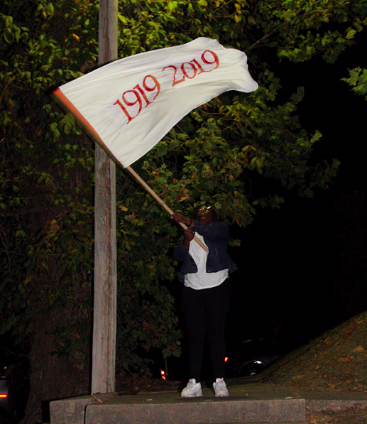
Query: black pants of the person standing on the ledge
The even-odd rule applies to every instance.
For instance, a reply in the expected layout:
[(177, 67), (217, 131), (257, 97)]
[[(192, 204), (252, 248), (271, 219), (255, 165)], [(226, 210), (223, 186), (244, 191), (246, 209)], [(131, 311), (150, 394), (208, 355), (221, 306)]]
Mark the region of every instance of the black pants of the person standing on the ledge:
[(205, 334), (208, 337), (212, 354), (214, 379), (225, 377), (224, 329), (231, 293), (229, 278), (214, 288), (194, 290), (190, 287), (183, 287), (182, 308), (189, 338), (190, 379), (201, 381)]

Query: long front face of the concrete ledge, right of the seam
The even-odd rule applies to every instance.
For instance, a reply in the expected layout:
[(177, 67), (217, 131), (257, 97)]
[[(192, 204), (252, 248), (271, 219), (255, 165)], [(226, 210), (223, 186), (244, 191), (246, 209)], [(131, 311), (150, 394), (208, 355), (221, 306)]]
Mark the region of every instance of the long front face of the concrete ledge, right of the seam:
[(305, 399), (94, 404), (87, 405), (85, 411), (85, 424), (305, 423), (305, 420)]

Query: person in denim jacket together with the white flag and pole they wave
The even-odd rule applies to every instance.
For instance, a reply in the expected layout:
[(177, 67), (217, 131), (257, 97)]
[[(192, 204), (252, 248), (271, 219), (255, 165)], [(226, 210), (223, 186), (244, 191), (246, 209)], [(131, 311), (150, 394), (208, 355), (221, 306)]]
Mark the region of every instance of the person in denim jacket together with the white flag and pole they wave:
[[(184, 283), (190, 344), (190, 381), (182, 391), (183, 397), (202, 396), (200, 369), (205, 333), (212, 348), (215, 394), (228, 396), (224, 323), (231, 298), (228, 275), (236, 270), (226, 253), (229, 230), (209, 207), (198, 211), (194, 220), (173, 213), (131, 165), (196, 107), (224, 92), (251, 93), (256, 89), (258, 83), (248, 72), (245, 53), (199, 37), (183, 45), (115, 60), (67, 82), (52, 94), (84, 132), (185, 229), (175, 249), (176, 258), (183, 261), (180, 281)], [(206, 246), (200, 245), (199, 239)]]

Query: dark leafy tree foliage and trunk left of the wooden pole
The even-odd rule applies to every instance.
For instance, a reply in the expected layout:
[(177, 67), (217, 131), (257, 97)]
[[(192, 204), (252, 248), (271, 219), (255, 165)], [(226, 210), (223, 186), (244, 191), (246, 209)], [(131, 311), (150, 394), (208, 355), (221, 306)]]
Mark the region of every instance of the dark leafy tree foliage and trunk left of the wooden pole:
[(86, 13), (69, 2), (1, 4), (0, 334), (31, 362), (30, 423), (41, 399), (88, 387), (92, 143), (46, 92), (82, 75), (78, 60), (95, 62), (72, 36)]

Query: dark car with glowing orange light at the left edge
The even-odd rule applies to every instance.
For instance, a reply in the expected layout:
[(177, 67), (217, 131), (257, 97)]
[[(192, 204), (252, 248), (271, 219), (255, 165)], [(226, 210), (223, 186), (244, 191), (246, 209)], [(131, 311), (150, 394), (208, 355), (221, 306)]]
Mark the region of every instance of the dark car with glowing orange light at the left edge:
[(27, 402), (27, 379), (17, 357), (0, 347), (0, 423), (16, 424)]

